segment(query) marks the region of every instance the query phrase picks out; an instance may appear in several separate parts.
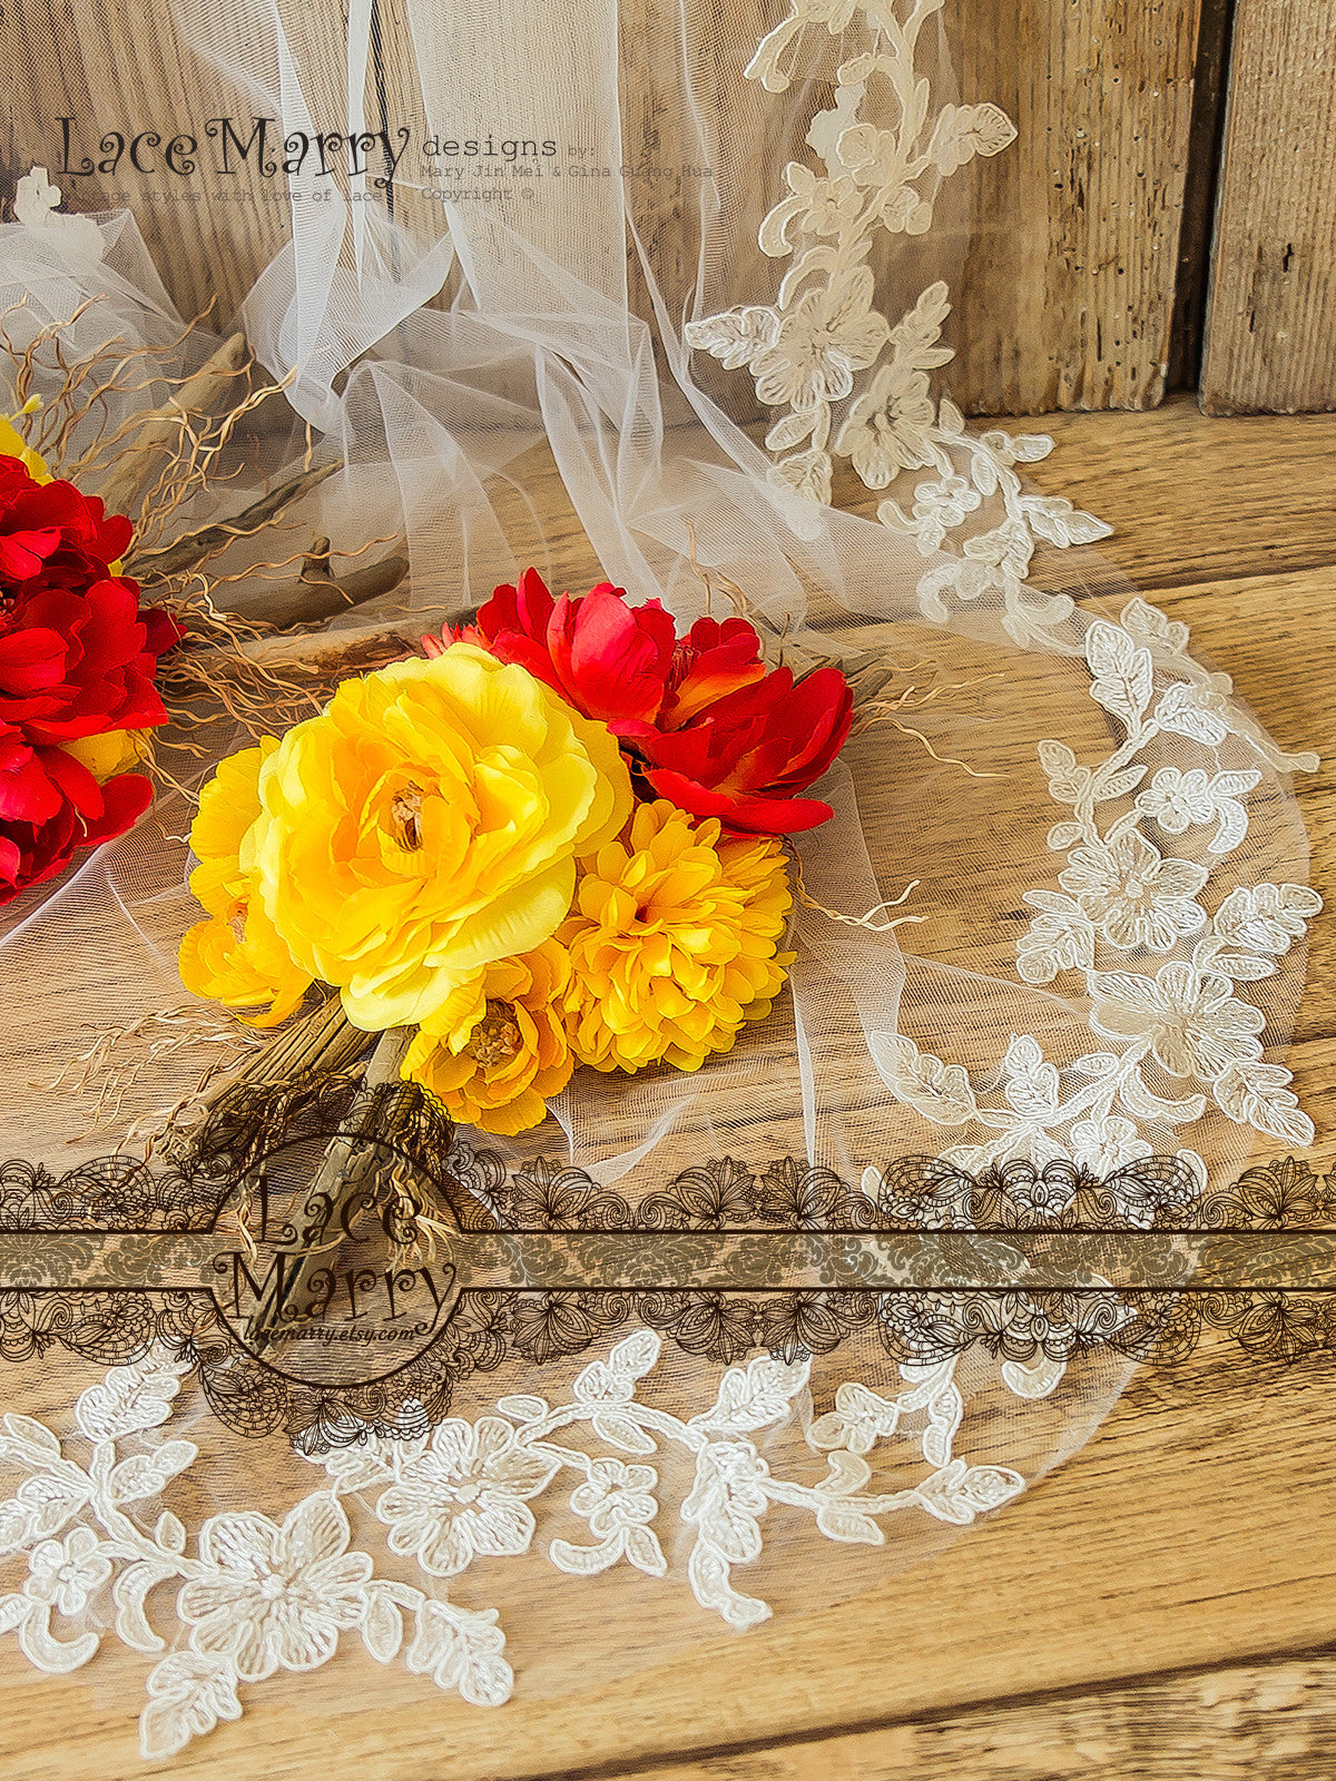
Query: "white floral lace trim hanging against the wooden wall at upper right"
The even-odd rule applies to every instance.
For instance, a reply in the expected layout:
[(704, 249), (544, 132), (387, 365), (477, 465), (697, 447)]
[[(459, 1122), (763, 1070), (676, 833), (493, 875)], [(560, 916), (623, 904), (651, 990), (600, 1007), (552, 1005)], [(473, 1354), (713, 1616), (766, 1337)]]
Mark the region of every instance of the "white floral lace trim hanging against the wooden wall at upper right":
[[(941, 344), (951, 313), (946, 285), (928, 285), (892, 326), (875, 308), (866, 265), (878, 230), (923, 235), (937, 182), (1015, 139), (1010, 118), (990, 103), (933, 112), (916, 57), (923, 25), (942, 4), (789, 0), (789, 18), (746, 69), (768, 91), (789, 87), (809, 25), (837, 36), (857, 20), (871, 48), (841, 62), (835, 105), (807, 134), (823, 171), (789, 162), (786, 196), (761, 224), (761, 249), (793, 262), (775, 301), (700, 317), (684, 338), (729, 370), (746, 367), (757, 397), (786, 410), (766, 435), (777, 459), (770, 481), (800, 536), (812, 533), (809, 504), (830, 500), (834, 458), (848, 458), (871, 490), (932, 472), (912, 484), (908, 511), (891, 495), (876, 509), (925, 557), (946, 552), (919, 581), (921, 611), (941, 623), (948, 595), (999, 597), (1008, 634), (1024, 645), (1072, 611), (1065, 595), (1026, 588), (1035, 543), (1092, 543), (1110, 527), (1063, 497), (1026, 493), (1015, 465), (1046, 458), (1053, 440), (971, 435), (955, 403), (933, 395), (930, 374), (955, 356)], [(869, 94), (891, 128), (864, 114)]]

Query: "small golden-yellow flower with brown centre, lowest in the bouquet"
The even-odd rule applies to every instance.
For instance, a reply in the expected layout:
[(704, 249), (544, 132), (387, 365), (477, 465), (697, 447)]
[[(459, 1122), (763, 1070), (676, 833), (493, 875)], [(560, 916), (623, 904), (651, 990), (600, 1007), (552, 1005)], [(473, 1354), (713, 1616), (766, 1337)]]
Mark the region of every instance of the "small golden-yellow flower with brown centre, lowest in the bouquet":
[(461, 1126), (508, 1136), (540, 1126), (547, 1097), (575, 1067), (561, 1004), (568, 983), (570, 958), (556, 940), (497, 960), (419, 1028), (404, 1079), (438, 1095)]

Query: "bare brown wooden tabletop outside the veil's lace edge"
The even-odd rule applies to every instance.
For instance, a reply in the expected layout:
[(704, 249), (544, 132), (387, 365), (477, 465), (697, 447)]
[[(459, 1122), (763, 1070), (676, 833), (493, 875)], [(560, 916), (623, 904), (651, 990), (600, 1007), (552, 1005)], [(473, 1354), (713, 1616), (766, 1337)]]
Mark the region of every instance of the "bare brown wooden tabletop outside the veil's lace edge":
[[(1234, 675), (1283, 744), (1336, 703), (1336, 417), (1044, 417), (1035, 470), (1117, 527), (1104, 554)], [(1334, 750), (1336, 753), (1336, 750)], [(1336, 784), (1300, 787), (1315, 926), (1291, 1061), (1336, 1167)], [(0, 1647), (0, 1774), (75, 1781), (1224, 1781), (1336, 1774), (1336, 1362), (1199, 1350), (1138, 1373), (1094, 1439), (928, 1565), (851, 1605), (499, 1712), (356, 1651), (246, 1690), (148, 1769), (143, 1658), (32, 1672)]]

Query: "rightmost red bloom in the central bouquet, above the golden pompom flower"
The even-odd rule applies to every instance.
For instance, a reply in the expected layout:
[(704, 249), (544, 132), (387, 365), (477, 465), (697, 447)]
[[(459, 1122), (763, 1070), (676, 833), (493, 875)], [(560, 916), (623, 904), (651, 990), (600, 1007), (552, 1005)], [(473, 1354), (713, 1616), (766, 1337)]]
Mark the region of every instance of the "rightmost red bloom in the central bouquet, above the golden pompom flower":
[(746, 834), (789, 835), (828, 821), (828, 803), (793, 794), (827, 771), (851, 721), (853, 695), (837, 668), (796, 682), (777, 668), (636, 748), (659, 798)]

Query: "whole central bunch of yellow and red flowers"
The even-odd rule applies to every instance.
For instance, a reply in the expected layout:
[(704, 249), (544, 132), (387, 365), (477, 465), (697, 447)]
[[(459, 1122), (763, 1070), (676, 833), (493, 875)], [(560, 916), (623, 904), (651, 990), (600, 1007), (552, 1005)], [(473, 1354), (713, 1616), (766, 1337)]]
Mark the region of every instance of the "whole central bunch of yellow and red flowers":
[(729, 1051), (793, 960), (782, 837), (832, 814), (802, 793), (850, 732), (844, 675), (533, 570), (422, 643), (205, 785), (185, 987), (276, 1026), (328, 985), (403, 1079), (506, 1134), (577, 1065)]

